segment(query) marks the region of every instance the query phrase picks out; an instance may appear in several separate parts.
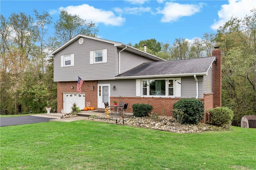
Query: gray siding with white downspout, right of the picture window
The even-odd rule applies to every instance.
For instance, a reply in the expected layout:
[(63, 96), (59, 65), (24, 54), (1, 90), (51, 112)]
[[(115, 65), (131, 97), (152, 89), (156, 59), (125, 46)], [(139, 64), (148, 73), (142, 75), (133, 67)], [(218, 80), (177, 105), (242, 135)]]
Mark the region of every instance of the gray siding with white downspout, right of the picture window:
[[(196, 78), (198, 80), (198, 98), (202, 98), (202, 76)], [(196, 98), (196, 80), (194, 77), (181, 78), (181, 97)]]

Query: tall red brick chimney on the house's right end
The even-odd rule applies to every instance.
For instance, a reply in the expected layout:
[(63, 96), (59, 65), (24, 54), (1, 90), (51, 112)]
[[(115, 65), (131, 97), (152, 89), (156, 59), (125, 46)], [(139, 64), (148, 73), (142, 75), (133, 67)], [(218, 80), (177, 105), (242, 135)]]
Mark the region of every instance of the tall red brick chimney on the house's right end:
[(216, 57), (216, 61), (212, 64), (212, 92), (213, 107), (221, 107), (221, 50), (214, 47), (212, 56)]

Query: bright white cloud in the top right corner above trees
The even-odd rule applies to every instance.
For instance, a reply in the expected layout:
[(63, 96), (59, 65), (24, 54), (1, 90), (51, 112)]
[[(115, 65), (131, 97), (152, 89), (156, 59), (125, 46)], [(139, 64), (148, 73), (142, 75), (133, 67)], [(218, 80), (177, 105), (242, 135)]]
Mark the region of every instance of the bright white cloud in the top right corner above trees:
[(211, 26), (214, 30), (224, 25), (231, 17), (243, 19), (246, 15), (250, 16), (250, 10), (256, 8), (256, 0), (228, 0), (228, 4), (224, 4), (221, 7), (220, 11), (218, 11), (218, 20), (215, 20)]

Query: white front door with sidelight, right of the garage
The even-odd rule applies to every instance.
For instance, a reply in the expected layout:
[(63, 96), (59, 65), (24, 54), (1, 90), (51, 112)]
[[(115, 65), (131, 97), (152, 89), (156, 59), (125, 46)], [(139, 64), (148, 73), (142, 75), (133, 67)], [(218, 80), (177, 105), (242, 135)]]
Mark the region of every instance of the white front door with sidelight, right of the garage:
[(105, 108), (104, 103), (110, 103), (110, 84), (98, 84), (98, 108)]

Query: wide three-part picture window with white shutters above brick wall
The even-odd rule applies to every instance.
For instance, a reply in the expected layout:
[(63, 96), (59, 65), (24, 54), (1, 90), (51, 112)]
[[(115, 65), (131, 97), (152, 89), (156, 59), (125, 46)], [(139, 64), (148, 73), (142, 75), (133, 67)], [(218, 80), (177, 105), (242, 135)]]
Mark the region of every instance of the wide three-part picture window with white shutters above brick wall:
[[(181, 78), (136, 80), (136, 96), (180, 97)], [(140, 93), (141, 90), (141, 93)]]

